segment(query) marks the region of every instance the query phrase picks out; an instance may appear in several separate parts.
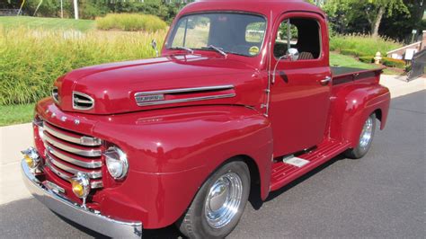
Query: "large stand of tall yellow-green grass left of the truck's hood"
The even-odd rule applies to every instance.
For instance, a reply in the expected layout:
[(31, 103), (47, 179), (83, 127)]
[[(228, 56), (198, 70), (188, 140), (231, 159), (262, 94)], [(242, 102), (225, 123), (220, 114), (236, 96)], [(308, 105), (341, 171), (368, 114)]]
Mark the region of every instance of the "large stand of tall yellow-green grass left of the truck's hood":
[(155, 56), (166, 31), (43, 31), (0, 27), (0, 105), (37, 102), (72, 69)]

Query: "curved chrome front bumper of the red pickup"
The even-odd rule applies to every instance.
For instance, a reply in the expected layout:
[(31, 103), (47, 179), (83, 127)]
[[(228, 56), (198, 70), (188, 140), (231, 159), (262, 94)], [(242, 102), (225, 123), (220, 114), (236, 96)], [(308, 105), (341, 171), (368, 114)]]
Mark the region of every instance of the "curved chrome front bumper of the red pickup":
[(70, 201), (69, 199), (58, 195), (52, 190), (47, 189), (43, 184), (31, 173), (30, 168), (22, 160), (22, 178), (30, 190), (34, 198), (39, 199), (41, 203), (46, 205), (52, 211), (58, 213), (62, 217), (74, 221), (75, 223), (87, 227), (102, 235), (111, 237), (142, 237), (141, 222), (125, 222), (102, 216), (87, 208), (82, 208)]

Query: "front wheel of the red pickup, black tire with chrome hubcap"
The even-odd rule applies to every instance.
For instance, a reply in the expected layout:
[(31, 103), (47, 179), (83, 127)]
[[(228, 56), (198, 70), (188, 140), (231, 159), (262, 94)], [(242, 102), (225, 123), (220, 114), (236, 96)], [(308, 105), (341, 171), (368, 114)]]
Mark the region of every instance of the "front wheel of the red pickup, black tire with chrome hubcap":
[(225, 164), (203, 184), (177, 226), (190, 238), (224, 238), (243, 215), (249, 193), (247, 164)]

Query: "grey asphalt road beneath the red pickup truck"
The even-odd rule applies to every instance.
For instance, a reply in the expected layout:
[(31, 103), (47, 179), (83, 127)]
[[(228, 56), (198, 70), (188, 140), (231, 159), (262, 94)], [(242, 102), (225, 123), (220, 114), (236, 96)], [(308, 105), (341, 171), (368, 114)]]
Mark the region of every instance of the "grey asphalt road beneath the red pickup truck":
[[(335, 158), (262, 207), (248, 205), (229, 238), (424, 238), (425, 104), (426, 91), (394, 99), (387, 128), (377, 131), (365, 158)], [(69, 225), (35, 199), (0, 206), (0, 232), (1, 238), (100, 236)], [(145, 235), (180, 236), (173, 226)]]

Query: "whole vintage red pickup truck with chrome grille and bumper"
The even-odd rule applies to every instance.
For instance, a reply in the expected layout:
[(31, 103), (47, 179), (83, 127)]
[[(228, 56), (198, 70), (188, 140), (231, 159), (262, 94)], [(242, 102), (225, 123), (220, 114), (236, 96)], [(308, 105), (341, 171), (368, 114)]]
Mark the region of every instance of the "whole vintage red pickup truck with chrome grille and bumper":
[(360, 158), (385, 128), (382, 69), (330, 67), (328, 43), (303, 1), (189, 4), (161, 56), (58, 78), (35, 108), (24, 181), (103, 235), (225, 237), (251, 190), (266, 199), (336, 155)]

